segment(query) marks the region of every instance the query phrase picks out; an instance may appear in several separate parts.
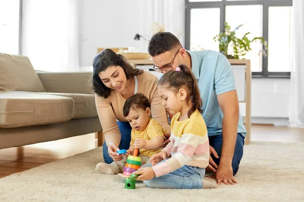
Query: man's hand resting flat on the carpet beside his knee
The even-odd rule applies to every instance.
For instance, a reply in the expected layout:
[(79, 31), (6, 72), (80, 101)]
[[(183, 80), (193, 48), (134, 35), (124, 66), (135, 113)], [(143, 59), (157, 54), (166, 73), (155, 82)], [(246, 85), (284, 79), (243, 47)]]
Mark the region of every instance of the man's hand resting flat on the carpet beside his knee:
[(221, 164), (219, 163), (218, 168), (215, 172), (215, 180), (217, 184), (221, 184), (223, 182), (224, 184), (237, 184), (238, 181), (234, 179), (233, 177), (233, 170), (232, 166), (230, 164)]

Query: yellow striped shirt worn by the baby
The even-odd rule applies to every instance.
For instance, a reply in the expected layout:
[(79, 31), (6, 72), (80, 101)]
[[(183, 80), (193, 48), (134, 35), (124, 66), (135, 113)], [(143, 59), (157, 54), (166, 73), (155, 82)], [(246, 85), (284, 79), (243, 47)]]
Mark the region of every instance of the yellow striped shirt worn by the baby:
[[(164, 139), (166, 139), (165, 135), (164, 135), (165, 132), (166, 131), (163, 129), (161, 124), (159, 124), (159, 122), (157, 122), (155, 119), (150, 119), (147, 127), (143, 131), (139, 131), (139, 130), (132, 128), (130, 145), (134, 144), (134, 141), (136, 138), (142, 138), (144, 140), (151, 140), (156, 137), (163, 137)], [(142, 154), (146, 157), (151, 157), (151, 156), (159, 153), (161, 150), (162, 150), (162, 148), (155, 149), (155, 150), (141, 148), (141, 149), (139, 149), (139, 152), (140, 152), (140, 154)]]

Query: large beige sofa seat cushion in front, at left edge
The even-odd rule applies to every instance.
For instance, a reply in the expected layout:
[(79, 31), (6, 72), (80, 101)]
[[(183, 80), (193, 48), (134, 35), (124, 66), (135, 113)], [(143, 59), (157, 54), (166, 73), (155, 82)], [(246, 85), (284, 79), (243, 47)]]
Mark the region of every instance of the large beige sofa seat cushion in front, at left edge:
[(73, 117), (74, 100), (52, 94), (0, 92), (0, 128), (61, 123)]

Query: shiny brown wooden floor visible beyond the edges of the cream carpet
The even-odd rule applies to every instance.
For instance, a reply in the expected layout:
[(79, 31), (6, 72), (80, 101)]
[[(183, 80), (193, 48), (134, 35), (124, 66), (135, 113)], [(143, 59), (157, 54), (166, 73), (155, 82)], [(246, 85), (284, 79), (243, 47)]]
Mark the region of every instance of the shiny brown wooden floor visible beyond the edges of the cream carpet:
[[(304, 142), (304, 129), (252, 125), (251, 141)], [(95, 134), (0, 149), (0, 178), (96, 148)]]

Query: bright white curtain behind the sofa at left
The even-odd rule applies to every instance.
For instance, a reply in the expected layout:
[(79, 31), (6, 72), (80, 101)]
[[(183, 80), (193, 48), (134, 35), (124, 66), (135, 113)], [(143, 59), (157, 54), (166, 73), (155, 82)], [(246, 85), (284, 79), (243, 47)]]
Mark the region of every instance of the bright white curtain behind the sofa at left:
[(26, 0), (22, 14), (22, 55), (34, 69), (79, 71), (78, 1)]

